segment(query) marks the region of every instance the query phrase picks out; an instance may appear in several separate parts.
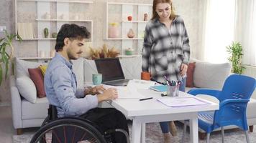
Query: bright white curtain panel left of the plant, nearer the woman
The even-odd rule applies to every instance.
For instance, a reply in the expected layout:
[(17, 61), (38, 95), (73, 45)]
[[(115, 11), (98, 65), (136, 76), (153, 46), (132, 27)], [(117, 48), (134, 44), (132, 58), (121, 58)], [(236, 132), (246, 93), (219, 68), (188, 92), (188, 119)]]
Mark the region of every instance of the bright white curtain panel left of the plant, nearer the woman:
[(202, 47), (205, 61), (228, 61), (226, 46), (234, 40), (235, 4), (234, 0), (207, 0)]

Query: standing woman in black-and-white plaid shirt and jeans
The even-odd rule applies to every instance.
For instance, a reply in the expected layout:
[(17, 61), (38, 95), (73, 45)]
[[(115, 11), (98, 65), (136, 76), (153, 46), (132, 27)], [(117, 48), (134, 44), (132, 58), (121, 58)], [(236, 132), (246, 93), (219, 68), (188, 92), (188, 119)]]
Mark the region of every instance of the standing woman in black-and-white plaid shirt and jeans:
[[(165, 84), (181, 81), (185, 92), (186, 72), (190, 56), (188, 34), (183, 19), (175, 15), (172, 0), (154, 0), (152, 19), (145, 28), (142, 71), (150, 71), (152, 81)], [(170, 142), (168, 122), (160, 122), (165, 143)]]

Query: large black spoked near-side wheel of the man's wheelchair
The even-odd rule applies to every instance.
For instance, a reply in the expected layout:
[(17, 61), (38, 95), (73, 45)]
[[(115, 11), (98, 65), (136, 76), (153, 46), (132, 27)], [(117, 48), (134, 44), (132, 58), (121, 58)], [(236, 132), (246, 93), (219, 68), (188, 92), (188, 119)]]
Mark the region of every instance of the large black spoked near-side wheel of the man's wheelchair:
[(83, 119), (63, 118), (41, 127), (30, 143), (106, 143), (101, 132)]

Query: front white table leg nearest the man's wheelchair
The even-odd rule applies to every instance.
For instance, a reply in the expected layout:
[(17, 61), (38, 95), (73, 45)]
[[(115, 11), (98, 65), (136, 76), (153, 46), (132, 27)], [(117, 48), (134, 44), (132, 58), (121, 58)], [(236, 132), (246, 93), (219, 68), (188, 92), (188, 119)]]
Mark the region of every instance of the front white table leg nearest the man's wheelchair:
[(142, 133), (142, 123), (138, 122), (137, 119), (132, 121), (132, 143), (140, 142), (140, 137)]

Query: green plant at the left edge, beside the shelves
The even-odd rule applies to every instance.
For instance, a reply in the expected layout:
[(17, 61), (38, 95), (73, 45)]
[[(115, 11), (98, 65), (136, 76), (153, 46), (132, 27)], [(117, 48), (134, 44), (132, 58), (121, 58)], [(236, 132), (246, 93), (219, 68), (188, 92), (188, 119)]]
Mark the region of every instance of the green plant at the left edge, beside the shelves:
[[(6, 30), (4, 30), (4, 37), (1, 37), (0, 39), (0, 85), (3, 80), (3, 66), (5, 67), (5, 79), (7, 77), (8, 71), (9, 71), (9, 59), (12, 59), (12, 56), (14, 54), (14, 47), (12, 46), (12, 39), (17, 37), (19, 39), (19, 42), (22, 41), (22, 37), (20, 37), (17, 34), (9, 34)], [(8, 53), (10, 48), (10, 54)]]

